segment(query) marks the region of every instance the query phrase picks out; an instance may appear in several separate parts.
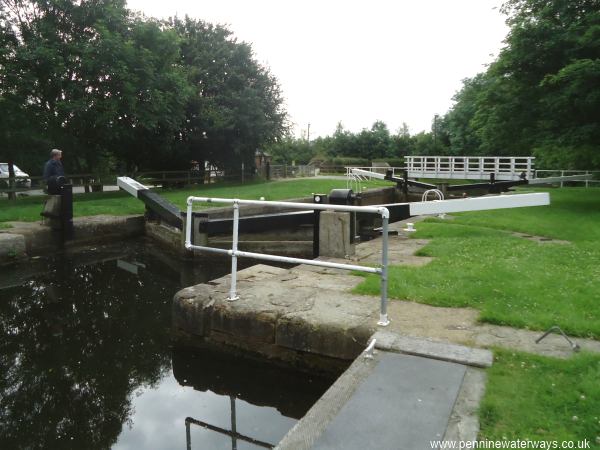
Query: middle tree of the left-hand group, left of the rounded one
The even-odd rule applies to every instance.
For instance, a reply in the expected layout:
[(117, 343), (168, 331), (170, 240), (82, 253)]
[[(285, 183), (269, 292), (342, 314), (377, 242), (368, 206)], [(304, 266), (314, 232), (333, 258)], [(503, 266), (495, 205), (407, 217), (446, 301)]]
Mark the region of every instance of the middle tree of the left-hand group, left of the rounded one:
[(161, 22), (135, 18), (117, 39), (121, 40), (117, 48), (102, 51), (104, 57), (120, 63), (110, 77), (106, 148), (129, 171), (189, 167), (181, 140), (193, 90), (180, 64), (177, 33)]

